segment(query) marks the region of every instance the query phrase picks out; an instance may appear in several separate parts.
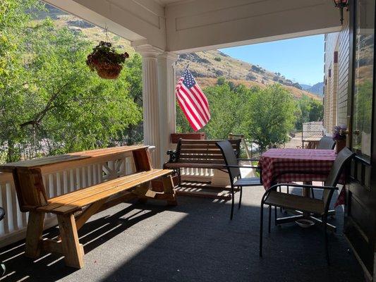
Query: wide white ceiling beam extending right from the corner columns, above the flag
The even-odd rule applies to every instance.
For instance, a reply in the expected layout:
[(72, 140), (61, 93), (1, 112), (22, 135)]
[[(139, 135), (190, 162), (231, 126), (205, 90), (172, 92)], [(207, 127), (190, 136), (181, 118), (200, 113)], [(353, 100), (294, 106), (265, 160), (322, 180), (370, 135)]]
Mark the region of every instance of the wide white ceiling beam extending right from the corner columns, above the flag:
[(167, 50), (201, 51), (335, 32), (331, 0), (192, 0), (166, 6)]

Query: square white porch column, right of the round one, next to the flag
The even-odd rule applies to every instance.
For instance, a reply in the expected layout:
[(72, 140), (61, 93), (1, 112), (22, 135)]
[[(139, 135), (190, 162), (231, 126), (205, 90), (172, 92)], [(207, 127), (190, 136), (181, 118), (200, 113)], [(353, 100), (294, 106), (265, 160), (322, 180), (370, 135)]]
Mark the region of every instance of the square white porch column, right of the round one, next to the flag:
[(176, 130), (175, 62), (178, 55), (164, 52), (158, 56), (159, 92), (159, 159), (161, 166), (167, 159), (166, 151), (172, 149), (170, 134)]

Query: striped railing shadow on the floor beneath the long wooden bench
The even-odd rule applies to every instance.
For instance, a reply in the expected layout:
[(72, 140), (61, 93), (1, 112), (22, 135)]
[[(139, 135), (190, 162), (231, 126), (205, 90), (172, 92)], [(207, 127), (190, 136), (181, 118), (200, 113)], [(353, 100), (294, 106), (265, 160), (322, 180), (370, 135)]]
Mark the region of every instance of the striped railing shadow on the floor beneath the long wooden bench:
[[(84, 245), (85, 255), (111, 238), (126, 231), (131, 226), (166, 210), (166, 207), (150, 205), (147, 210), (141, 204), (133, 203), (111, 215), (98, 217), (87, 222), (78, 231), (80, 243)], [(57, 226), (43, 233), (43, 238), (56, 239)], [(66, 267), (63, 257), (56, 254), (42, 254), (38, 259), (29, 259), (24, 254), (25, 241), (8, 245), (0, 250), (0, 260), (6, 264), (6, 276), (0, 281), (57, 281), (77, 269)]]

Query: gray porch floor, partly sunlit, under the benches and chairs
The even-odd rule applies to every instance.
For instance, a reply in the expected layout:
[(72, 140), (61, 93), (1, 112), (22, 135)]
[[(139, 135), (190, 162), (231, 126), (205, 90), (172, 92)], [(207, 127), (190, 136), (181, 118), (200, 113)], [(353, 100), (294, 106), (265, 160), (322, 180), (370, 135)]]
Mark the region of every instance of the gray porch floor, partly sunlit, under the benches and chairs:
[[(93, 216), (80, 230), (83, 269), (66, 267), (59, 255), (25, 258), (24, 242), (18, 242), (0, 250), (8, 273), (1, 281), (364, 281), (341, 233), (341, 208), (332, 219), (339, 231), (329, 236), (331, 266), (325, 260), (322, 229), (295, 223), (272, 226), (260, 258), (263, 192), (261, 187), (246, 188), (232, 221), (230, 203), (218, 200), (179, 197), (177, 207), (119, 204)], [(57, 228), (45, 233), (47, 238), (56, 235)]]

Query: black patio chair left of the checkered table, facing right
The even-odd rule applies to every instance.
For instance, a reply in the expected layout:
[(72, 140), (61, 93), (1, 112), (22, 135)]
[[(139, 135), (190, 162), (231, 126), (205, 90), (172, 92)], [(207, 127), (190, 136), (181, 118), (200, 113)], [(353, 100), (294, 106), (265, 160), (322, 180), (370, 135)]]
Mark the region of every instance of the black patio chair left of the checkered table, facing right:
[(227, 171), (230, 177), (230, 183), (231, 183), (230, 219), (232, 219), (233, 214), (234, 214), (234, 204), (235, 204), (235, 200), (234, 200), (235, 189), (234, 188), (236, 187), (240, 188), (240, 198), (239, 198), (239, 204), (238, 204), (238, 209), (240, 209), (241, 197), (243, 195), (243, 187), (262, 185), (261, 178), (258, 178), (258, 177), (241, 178), (240, 168), (255, 168), (260, 171), (260, 176), (261, 176), (261, 168), (259, 168), (258, 166), (240, 166), (239, 161), (258, 161), (258, 159), (237, 159), (234, 149), (228, 140), (219, 141), (216, 144), (217, 144), (217, 147), (221, 149), (221, 152), (222, 152), (225, 164), (226, 164), (225, 167), (227, 168)]

